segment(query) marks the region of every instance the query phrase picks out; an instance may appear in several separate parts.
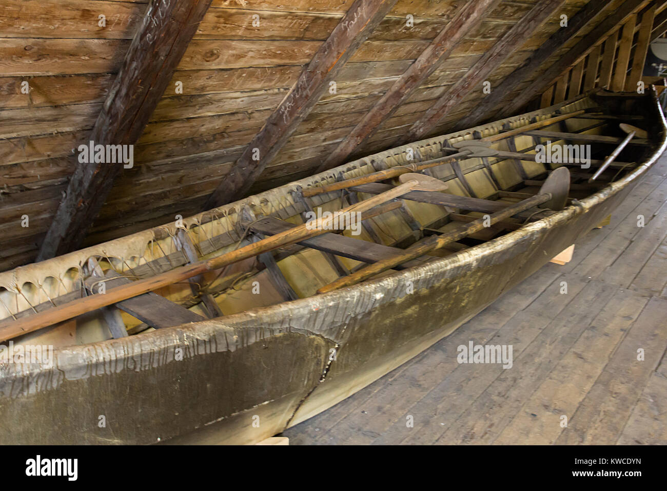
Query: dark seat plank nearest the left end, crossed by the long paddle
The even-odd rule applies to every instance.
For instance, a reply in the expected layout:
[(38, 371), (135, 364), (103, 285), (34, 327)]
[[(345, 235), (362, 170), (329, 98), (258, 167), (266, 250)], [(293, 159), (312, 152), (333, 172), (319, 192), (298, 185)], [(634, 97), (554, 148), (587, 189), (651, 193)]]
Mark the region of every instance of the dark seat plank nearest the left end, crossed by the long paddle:
[[(90, 277), (85, 282), (93, 295), (105, 295), (105, 293), (98, 293), (99, 281), (101, 281), (99, 277)], [(132, 283), (132, 280), (122, 277), (115, 271), (107, 271), (104, 283), (105, 290), (108, 292), (115, 287)], [(116, 303), (115, 306), (155, 329), (205, 320), (201, 315), (152, 292), (123, 300)]]

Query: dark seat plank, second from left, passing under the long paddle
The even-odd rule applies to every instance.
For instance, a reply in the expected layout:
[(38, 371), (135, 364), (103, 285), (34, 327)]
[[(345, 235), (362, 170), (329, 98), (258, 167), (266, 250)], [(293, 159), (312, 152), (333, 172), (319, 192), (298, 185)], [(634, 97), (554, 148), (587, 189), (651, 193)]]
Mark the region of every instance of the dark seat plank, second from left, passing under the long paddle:
[[(275, 235), (293, 227), (295, 227), (294, 224), (271, 217), (261, 218), (261, 220), (250, 225), (251, 230), (265, 235)], [(362, 261), (369, 264), (402, 253), (402, 249), (396, 247), (367, 242), (366, 240), (334, 233), (322, 234), (297, 243), (311, 249), (317, 249), (317, 251), (348, 257), (355, 261)], [(410, 261), (410, 263), (405, 263), (400, 267), (396, 267), (396, 269), (405, 269), (421, 264), (422, 261)]]

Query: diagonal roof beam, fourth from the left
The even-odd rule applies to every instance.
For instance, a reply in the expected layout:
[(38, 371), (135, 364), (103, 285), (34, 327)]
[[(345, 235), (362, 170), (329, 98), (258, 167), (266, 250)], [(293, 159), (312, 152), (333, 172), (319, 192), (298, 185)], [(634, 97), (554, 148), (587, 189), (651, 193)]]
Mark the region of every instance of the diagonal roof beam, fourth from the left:
[[(563, 0), (544, 0), (535, 5), (518, 23), (502, 37), (494, 46), (468, 70), (460, 80), (449, 88), (426, 114), (415, 122), (401, 139), (402, 142), (414, 142), (428, 135), (447, 114), (450, 114), (472, 90), (480, 90), (480, 84), (507, 59), (516, 49), (521, 47), (534, 31), (542, 25)], [(498, 88), (494, 89), (498, 90)]]

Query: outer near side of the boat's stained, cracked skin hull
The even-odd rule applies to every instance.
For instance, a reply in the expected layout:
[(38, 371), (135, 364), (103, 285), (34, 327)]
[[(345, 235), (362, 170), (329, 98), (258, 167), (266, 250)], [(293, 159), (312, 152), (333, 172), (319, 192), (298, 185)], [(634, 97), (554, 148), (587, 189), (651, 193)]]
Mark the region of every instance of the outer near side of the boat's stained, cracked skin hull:
[(664, 147), (663, 138), (632, 174), (561, 212), (420, 267), (60, 349), (50, 368), (3, 365), (0, 442), (252, 444), (273, 436), (414, 357), (579, 240)]

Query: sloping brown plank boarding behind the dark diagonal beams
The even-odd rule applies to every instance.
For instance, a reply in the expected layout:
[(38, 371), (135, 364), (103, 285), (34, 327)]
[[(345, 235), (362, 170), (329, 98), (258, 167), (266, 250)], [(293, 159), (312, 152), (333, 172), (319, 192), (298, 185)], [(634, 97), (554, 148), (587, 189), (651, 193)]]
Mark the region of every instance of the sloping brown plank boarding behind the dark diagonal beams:
[[(620, 1), (612, 0), (609, 8)], [(389, 148), (536, 2), (503, 0), (357, 156)], [(0, 220), (8, 224), (0, 236), (0, 271), (35, 257), (72, 172), (69, 160), (59, 157), (87, 141), (146, 5), (5, 0), (0, 7)], [(134, 167), (115, 182), (87, 244), (199, 212), (349, 5), (346, 0), (213, 0), (135, 147)], [(251, 192), (311, 173), (459, 5), (399, 0), (350, 59), (336, 93), (319, 100)], [(568, 0), (562, 13), (571, 17), (584, 5), (586, 0)], [(99, 15), (105, 15), (104, 27)], [(412, 27), (406, 25), (408, 15), (414, 17)], [(259, 26), (253, 26), (257, 19)], [(546, 21), (496, 69), (489, 77), (492, 86), (559, 29), (559, 20)], [(25, 81), (29, 94), (21, 93)], [(466, 98), (434, 134), (466, 114), (477, 97)], [(29, 227), (21, 226), (25, 214)]]

